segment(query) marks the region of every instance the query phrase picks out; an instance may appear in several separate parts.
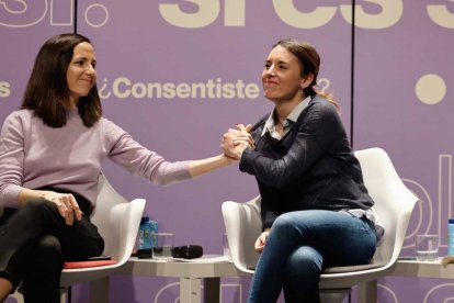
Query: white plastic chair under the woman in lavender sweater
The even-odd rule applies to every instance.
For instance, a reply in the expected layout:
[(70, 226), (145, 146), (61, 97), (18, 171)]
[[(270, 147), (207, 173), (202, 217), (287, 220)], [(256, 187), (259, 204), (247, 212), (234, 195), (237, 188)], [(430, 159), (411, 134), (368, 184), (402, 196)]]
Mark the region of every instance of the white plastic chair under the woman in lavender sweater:
[[(118, 194), (104, 175), (100, 175), (98, 181), (98, 198), (97, 207), (91, 221), (98, 226), (99, 233), (105, 242), (104, 252), (112, 257), (117, 262), (114, 265), (80, 268), (80, 269), (64, 269), (60, 279), (61, 285), (61, 303), (66, 302), (68, 288), (75, 284), (95, 280), (103, 281), (114, 273), (121, 266), (123, 266), (133, 252), (134, 245), (137, 237), (140, 218), (145, 209), (144, 199), (134, 199), (130, 202)], [(100, 283), (106, 290), (107, 281)], [(106, 291), (102, 293), (107, 293)], [(13, 295), (18, 303), (23, 302), (22, 294), (15, 292)], [(91, 302), (109, 302), (107, 298), (91, 298)]]

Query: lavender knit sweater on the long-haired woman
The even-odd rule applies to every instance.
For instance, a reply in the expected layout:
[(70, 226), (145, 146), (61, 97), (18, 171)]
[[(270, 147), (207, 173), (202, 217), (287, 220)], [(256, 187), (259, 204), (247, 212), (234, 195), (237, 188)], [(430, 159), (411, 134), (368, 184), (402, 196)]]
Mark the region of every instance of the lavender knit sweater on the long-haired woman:
[(95, 203), (105, 157), (152, 183), (191, 178), (189, 161), (166, 161), (106, 119), (88, 128), (75, 110), (64, 127), (53, 128), (32, 111), (19, 110), (5, 119), (0, 134), (0, 209), (18, 207), (23, 188), (43, 186), (68, 189)]

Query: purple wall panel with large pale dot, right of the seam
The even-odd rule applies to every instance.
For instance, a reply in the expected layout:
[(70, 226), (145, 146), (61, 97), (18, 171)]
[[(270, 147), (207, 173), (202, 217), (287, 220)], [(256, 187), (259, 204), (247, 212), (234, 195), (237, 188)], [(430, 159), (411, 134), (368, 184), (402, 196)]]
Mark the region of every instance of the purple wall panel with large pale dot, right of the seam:
[[(440, 235), (444, 255), (447, 218), (454, 216), (454, 5), (424, 0), (381, 2), (389, 2), (382, 5), (382, 18), (356, 26), (354, 148), (385, 148), (399, 176), (422, 200), (401, 255), (415, 255), (416, 235), (429, 233)], [(366, 13), (376, 12), (377, 4), (360, 3)], [(381, 29), (367, 27), (373, 24)], [(389, 278), (382, 283), (386, 288), (379, 289), (379, 302), (442, 302), (453, 292), (452, 283), (438, 289), (450, 283), (443, 280)]]

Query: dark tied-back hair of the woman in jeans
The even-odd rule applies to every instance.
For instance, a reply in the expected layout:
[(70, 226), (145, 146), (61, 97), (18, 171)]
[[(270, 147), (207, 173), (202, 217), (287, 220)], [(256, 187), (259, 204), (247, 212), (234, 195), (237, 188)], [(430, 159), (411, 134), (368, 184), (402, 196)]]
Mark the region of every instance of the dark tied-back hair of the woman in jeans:
[(314, 87), (317, 86), (317, 76), (320, 70), (320, 56), (318, 55), (317, 50), (314, 46), (308, 44), (307, 42), (297, 41), (294, 38), (286, 38), (281, 40), (276, 44), (273, 45), (273, 48), (276, 46), (282, 46), (288, 52), (291, 52), (296, 58), (298, 58), (302, 77), (313, 74), (314, 80), (313, 82), (303, 90), (306, 96), (315, 96), (319, 94), (332, 103), (338, 111), (340, 111), (339, 103), (334, 100), (331, 93), (325, 93), (321, 91), (316, 90)]

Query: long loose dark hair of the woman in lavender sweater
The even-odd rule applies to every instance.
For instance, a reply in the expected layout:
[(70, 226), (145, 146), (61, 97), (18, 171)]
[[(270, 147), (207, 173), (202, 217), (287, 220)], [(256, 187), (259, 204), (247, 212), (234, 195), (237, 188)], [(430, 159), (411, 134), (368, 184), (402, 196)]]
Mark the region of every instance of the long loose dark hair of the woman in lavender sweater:
[[(66, 74), (75, 47), (82, 42), (91, 44), (88, 37), (80, 34), (56, 35), (43, 44), (36, 56), (21, 109), (33, 110), (50, 127), (61, 127), (67, 123), (70, 92)], [(80, 98), (78, 110), (87, 127), (101, 119), (102, 106), (97, 85), (86, 97)]]

